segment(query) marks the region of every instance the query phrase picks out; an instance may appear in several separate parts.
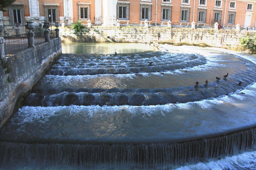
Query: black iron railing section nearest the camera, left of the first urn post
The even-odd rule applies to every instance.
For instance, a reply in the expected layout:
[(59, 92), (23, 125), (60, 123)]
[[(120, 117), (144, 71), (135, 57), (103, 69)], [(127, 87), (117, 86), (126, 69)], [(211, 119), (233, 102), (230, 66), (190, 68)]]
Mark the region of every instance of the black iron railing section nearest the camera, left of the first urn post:
[(29, 47), (28, 33), (6, 36), (4, 39), (5, 56), (9, 56)]

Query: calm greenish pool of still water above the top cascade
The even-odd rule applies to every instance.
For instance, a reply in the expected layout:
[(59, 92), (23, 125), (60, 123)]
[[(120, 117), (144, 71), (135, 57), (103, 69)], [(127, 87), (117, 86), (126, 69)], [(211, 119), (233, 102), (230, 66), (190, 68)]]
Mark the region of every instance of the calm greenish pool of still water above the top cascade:
[(114, 54), (156, 51), (153, 46), (141, 43), (74, 43), (62, 42), (62, 53)]

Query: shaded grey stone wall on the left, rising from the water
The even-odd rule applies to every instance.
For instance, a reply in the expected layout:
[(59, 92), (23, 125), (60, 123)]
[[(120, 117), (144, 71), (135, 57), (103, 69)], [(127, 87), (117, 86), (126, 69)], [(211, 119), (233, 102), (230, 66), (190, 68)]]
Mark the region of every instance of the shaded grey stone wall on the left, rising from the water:
[(0, 128), (23, 105), (24, 96), (61, 54), (61, 40), (28, 48), (0, 61)]

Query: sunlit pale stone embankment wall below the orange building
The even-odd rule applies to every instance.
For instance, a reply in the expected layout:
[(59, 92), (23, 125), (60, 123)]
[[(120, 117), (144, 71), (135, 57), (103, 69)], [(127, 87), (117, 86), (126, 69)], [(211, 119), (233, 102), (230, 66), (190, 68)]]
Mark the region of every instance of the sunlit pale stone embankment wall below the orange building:
[[(246, 31), (191, 29), (191, 28), (92, 28), (88, 34), (76, 36), (73, 30), (60, 29), (62, 41), (71, 42), (132, 42), (146, 41), (170, 43), (205, 43), (209, 46), (235, 48), (240, 45), (239, 38), (249, 33)], [(108, 38), (109, 36), (109, 38)]]

